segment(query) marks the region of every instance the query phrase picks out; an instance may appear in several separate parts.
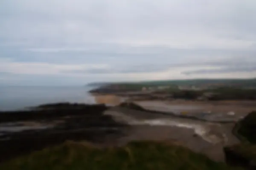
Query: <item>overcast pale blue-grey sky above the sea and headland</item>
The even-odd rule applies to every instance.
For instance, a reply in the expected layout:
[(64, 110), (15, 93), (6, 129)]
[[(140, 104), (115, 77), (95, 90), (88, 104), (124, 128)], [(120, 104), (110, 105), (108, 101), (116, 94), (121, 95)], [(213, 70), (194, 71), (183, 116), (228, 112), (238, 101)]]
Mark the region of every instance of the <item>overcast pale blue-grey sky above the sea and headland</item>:
[(256, 77), (255, 0), (0, 0), (0, 85)]

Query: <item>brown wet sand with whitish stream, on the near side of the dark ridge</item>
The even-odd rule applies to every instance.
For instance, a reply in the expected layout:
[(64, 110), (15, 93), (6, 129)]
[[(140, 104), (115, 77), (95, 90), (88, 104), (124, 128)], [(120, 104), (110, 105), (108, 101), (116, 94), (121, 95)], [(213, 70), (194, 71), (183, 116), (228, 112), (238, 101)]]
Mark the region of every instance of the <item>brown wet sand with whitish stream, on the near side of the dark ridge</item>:
[(234, 123), (209, 123), (120, 107), (111, 108), (105, 114), (131, 125), (125, 136), (118, 139), (119, 145), (132, 140), (175, 141), (215, 161), (225, 161), (223, 147), (239, 143), (232, 134)]

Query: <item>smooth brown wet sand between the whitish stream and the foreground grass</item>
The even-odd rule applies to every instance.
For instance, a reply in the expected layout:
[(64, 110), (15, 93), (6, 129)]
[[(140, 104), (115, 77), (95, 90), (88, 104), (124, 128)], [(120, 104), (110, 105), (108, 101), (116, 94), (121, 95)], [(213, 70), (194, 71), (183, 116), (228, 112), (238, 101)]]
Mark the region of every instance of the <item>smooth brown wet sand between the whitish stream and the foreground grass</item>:
[(124, 145), (136, 140), (174, 142), (194, 152), (203, 153), (212, 160), (225, 161), (224, 144), (211, 144), (200, 136), (195, 136), (193, 130), (184, 127), (134, 125), (130, 127), (125, 137), (118, 140), (118, 143)]

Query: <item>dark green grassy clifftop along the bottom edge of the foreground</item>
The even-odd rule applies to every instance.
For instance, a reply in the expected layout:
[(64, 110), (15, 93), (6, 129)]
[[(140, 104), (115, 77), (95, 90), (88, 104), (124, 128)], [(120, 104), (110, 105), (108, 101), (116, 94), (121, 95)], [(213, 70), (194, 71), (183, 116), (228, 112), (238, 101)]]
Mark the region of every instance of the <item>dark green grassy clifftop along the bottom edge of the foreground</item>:
[(65, 142), (0, 164), (1, 170), (236, 170), (174, 144), (131, 142), (99, 149)]

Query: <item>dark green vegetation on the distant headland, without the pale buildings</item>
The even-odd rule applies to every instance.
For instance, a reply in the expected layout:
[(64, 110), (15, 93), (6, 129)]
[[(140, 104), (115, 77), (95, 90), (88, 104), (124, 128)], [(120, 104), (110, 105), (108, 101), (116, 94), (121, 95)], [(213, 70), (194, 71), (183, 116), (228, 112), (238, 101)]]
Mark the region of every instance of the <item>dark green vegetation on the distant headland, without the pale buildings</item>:
[[(202, 90), (181, 90), (178, 86), (186, 87), (204, 87), (208, 89)], [(212, 86), (213, 85), (213, 86)], [(159, 88), (160, 86), (164, 88)], [(128, 91), (141, 91), (143, 88), (156, 90), (172, 95), (175, 99), (197, 99), (204, 97), (209, 100), (256, 100), (256, 79), (193, 79), (193, 80), (166, 80), (166, 81), (151, 81), (151, 82), (133, 82), (133, 83), (112, 83), (102, 88), (98, 88), (91, 92), (95, 93), (118, 93)], [(200, 89), (200, 88), (198, 88)], [(210, 92), (211, 95), (204, 96)]]

